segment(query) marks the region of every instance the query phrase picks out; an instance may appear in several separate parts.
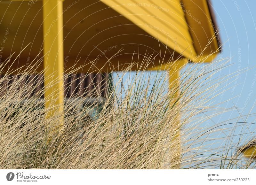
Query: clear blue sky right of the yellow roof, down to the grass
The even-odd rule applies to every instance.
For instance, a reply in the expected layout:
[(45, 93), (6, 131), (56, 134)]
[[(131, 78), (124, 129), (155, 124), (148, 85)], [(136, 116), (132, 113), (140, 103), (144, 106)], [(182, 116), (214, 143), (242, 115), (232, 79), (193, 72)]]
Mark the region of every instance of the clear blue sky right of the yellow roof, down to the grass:
[[(198, 115), (211, 117), (218, 114), (197, 125), (205, 131), (223, 125), (215, 128), (217, 132), (203, 136), (207, 138), (205, 141), (208, 140), (204, 142), (205, 151), (220, 152), (226, 145), (232, 147), (233, 150), (229, 151), (235, 152), (237, 146), (256, 139), (255, 5), (254, 0), (212, 0), (223, 43), (222, 53), (216, 60), (223, 60), (221, 63), (229, 61), (226, 64), (228, 67), (213, 74), (208, 81), (218, 79), (216, 92), (208, 103), (217, 109)], [(231, 153), (226, 155), (230, 156)]]

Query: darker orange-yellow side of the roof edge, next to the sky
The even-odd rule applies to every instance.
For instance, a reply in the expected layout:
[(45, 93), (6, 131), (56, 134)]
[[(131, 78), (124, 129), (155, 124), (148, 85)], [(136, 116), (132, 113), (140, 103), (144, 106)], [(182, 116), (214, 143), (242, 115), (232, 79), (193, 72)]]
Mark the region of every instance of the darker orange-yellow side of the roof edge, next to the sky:
[(218, 27), (213, 24), (214, 15), (211, 15), (207, 1), (182, 0), (181, 7), (197, 54), (190, 59), (193, 62), (211, 62), (219, 53), (221, 43), (219, 35), (214, 31), (218, 31)]

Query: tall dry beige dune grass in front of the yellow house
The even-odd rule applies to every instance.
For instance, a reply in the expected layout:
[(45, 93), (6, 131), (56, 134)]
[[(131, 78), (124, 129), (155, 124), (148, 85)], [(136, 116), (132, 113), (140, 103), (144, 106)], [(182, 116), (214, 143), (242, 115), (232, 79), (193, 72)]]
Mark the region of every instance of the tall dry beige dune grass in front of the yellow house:
[[(173, 63), (170, 61), (170, 65)], [(180, 75), (179, 86), (173, 85), (177, 82), (166, 83), (168, 71), (146, 73), (145, 67), (140, 73), (131, 73), (125, 69), (113, 79), (114, 87), (108, 89), (104, 101), (93, 104), (101, 110), (93, 116), (93, 107), (84, 106), (88, 97), (67, 100), (64, 130), (53, 135), (49, 144), (46, 128), (60, 115), (45, 119), (44, 100), (39, 98), (43, 92), (27, 98), (36, 86), (24, 81), (35, 70), (32, 66), (22, 73), (17, 70), (20, 78), (10, 77), (8, 73), (12, 72), (7, 72), (0, 79), (0, 84), (12, 81), (0, 97), (0, 168), (254, 168), (252, 159), (234, 152), (240, 143), (227, 142), (221, 148), (204, 150), (210, 140), (228, 141), (234, 135), (209, 138), (209, 133), (232, 133), (232, 128), (225, 130), (221, 124), (202, 128), (200, 123), (211, 118), (197, 117), (214, 108), (207, 103), (218, 88), (218, 79), (211, 79), (211, 84), (207, 79), (226, 66), (220, 61), (190, 64)], [(72, 72), (76, 73), (76, 69)], [(129, 80), (124, 81), (127, 74)], [(5, 88), (1, 86), (0, 92)]]

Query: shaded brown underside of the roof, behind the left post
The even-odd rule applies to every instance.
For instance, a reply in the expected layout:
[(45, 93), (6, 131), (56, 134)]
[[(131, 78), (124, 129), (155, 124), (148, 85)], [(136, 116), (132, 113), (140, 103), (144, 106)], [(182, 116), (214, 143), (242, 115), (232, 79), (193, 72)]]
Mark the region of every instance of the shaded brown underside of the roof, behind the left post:
[[(74, 1), (65, 0), (63, 2), (63, 11), (72, 5), (72, 3)], [(30, 43), (26, 50), (20, 54), (20, 60), (15, 64), (15, 68), (16, 65), (19, 67), (26, 66), (28, 56), (31, 59), (35, 58), (42, 49), (42, 35), (44, 35), (42, 27), (42, 5), (42, 1), (37, 1), (32, 7), (28, 5), (28, 2), (12, 2), (10, 4), (4, 3), (0, 5), (0, 17), (4, 17), (1, 25), (4, 28), (10, 27), (10, 30), (12, 30), (8, 35), (9, 42), (6, 43), (4, 49), (6, 56), (9, 56), (14, 51), (19, 53), (21, 49)], [(90, 8), (84, 9), (84, 7), (89, 5)], [(7, 10), (6, 13), (5, 10)], [(180, 56), (176, 52), (173, 56), (173, 50), (169, 47), (166, 50), (165, 43), (161, 44), (160, 42), (159, 45), (157, 38), (152, 37), (129, 19), (126, 19), (102, 2), (95, 3), (95, 0), (77, 1), (68, 10), (66, 9), (63, 16), (64, 57), (68, 56), (65, 70), (73, 67), (79, 58), (81, 59), (74, 68), (85, 64), (91, 66), (91, 61), (95, 60), (101, 54), (100, 50), (107, 50), (106, 56), (111, 58), (116, 52), (123, 49), (120, 55), (111, 59), (109, 65), (106, 65), (108, 63), (107, 58), (100, 57), (95, 67), (84, 67), (84, 73), (87, 73), (91, 69), (91, 71), (98, 71), (100, 69), (110, 71), (112, 66), (114, 66), (115, 70), (124, 69), (123, 66), (129, 66), (128, 63), (137, 62), (135, 60), (132, 61), (133, 52), (140, 52), (140, 55), (144, 55), (145, 53), (157, 54), (161, 51), (162, 58), (164, 55), (166, 58), (177, 58)], [(86, 21), (84, 20), (85, 18)], [(10, 26), (11, 21), (12, 24)], [(15, 44), (13, 45), (12, 43)], [(116, 45), (118, 46), (117, 48), (108, 50), (110, 47)], [(175, 50), (178, 50), (178, 46)], [(43, 52), (41, 52), (40, 57), (43, 57)], [(155, 61), (152, 62), (154, 65), (159, 65), (159, 57), (157, 55)], [(134, 56), (134, 58), (137, 57)], [(42, 69), (43, 65), (37, 66), (36, 68), (37, 71), (41, 71)], [(133, 67), (132, 70), (137, 69)]]

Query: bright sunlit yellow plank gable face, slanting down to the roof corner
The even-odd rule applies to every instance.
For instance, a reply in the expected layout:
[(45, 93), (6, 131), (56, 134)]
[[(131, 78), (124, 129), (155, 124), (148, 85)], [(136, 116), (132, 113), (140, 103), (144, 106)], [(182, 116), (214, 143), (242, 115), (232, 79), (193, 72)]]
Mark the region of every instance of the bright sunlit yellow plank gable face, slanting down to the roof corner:
[[(193, 41), (191, 39), (184, 12), (181, 9), (180, 1), (173, 0), (170, 6), (177, 7), (183, 15), (183, 21), (175, 20), (171, 16), (174, 14), (166, 13), (160, 8), (152, 7), (153, 1), (133, 1), (133, 0), (101, 0), (116, 12), (131, 20), (141, 29), (148, 32), (153, 37), (159, 39), (178, 53), (182, 53), (186, 58), (196, 57)], [(138, 4), (138, 5), (135, 5)], [(141, 4), (141, 5), (140, 5)], [(146, 4), (146, 5), (144, 5)], [(157, 3), (155, 3), (157, 4)], [(148, 5), (148, 6), (147, 6)], [(163, 8), (169, 8), (163, 7)], [(177, 16), (176, 16), (177, 18)]]

